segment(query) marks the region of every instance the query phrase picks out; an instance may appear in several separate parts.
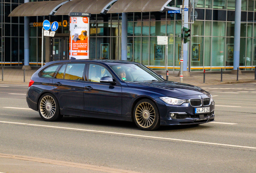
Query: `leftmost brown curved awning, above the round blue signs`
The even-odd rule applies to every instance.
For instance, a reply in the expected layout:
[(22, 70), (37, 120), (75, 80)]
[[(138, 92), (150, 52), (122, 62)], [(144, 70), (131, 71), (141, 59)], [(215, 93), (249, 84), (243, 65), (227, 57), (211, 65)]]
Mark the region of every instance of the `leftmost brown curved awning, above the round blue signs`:
[(66, 0), (56, 1), (41, 1), (41, 2), (27, 2), (16, 7), (9, 14), (9, 17), (13, 16), (48, 16), (52, 14), (62, 4), (65, 4)]

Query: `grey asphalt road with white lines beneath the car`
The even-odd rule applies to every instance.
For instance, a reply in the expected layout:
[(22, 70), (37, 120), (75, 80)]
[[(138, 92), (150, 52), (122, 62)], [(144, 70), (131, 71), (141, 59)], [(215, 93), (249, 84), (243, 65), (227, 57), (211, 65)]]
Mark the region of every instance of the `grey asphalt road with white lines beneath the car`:
[(256, 83), (202, 88), (215, 100), (215, 122), (141, 131), (92, 118), (46, 122), (28, 109), (27, 86), (0, 84), (0, 153), (142, 173), (256, 173)]

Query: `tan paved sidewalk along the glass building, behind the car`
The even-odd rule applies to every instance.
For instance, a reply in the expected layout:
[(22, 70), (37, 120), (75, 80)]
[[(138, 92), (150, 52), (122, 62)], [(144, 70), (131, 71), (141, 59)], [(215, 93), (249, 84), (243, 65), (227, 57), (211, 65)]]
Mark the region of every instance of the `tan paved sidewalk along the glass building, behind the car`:
[[(37, 70), (26, 70), (25, 71), (25, 82), (24, 81), (24, 71), (21, 69), (4, 69), (4, 82), (2, 82), (2, 70), (0, 70), (0, 84), (28, 84), (29, 80), (34, 72)], [(180, 76), (178, 74), (169, 74), (169, 80), (180, 82)], [(165, 78), (166, 76), (164, 76)], [(198, 72), (190, 72), (190, 77), (184, 77), (183, 83), (192, 84), (196, 86), (200, 85), (211, 85), (211, 84), (231, 84), (231, 83), (247, 83), (247, 82), (256, 82), (254, 80), (254, 71), (252, 72), (243, 72), (238, 76), (236, 74), (223, 74), (223, 82), (221, 82), (221, 74), (205, 74), (205, 83), (204, 74), (198, 74)]]

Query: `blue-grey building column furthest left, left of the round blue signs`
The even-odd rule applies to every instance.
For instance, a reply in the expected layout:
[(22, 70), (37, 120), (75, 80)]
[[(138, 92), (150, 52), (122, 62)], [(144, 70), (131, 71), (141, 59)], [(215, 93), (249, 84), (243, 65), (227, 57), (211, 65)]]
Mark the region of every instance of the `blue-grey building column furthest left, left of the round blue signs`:
[[(29, 0), (24, 0), (24, 3)], [(24, 17), (24, 65), (22, 69), (31, 70), (29, 65), (29, 17)]]

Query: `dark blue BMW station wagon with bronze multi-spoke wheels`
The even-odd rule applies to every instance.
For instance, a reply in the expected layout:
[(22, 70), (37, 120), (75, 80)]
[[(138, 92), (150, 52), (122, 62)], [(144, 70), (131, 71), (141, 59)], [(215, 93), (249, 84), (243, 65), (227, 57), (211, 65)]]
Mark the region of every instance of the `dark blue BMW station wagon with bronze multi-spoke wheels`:
[(27, 103), (45, 121), (64, 115), (95, 117), (134, 121), (142, 130), (215, 118), (210, 93), (122, 60), (48, 62), (31, 77)]

